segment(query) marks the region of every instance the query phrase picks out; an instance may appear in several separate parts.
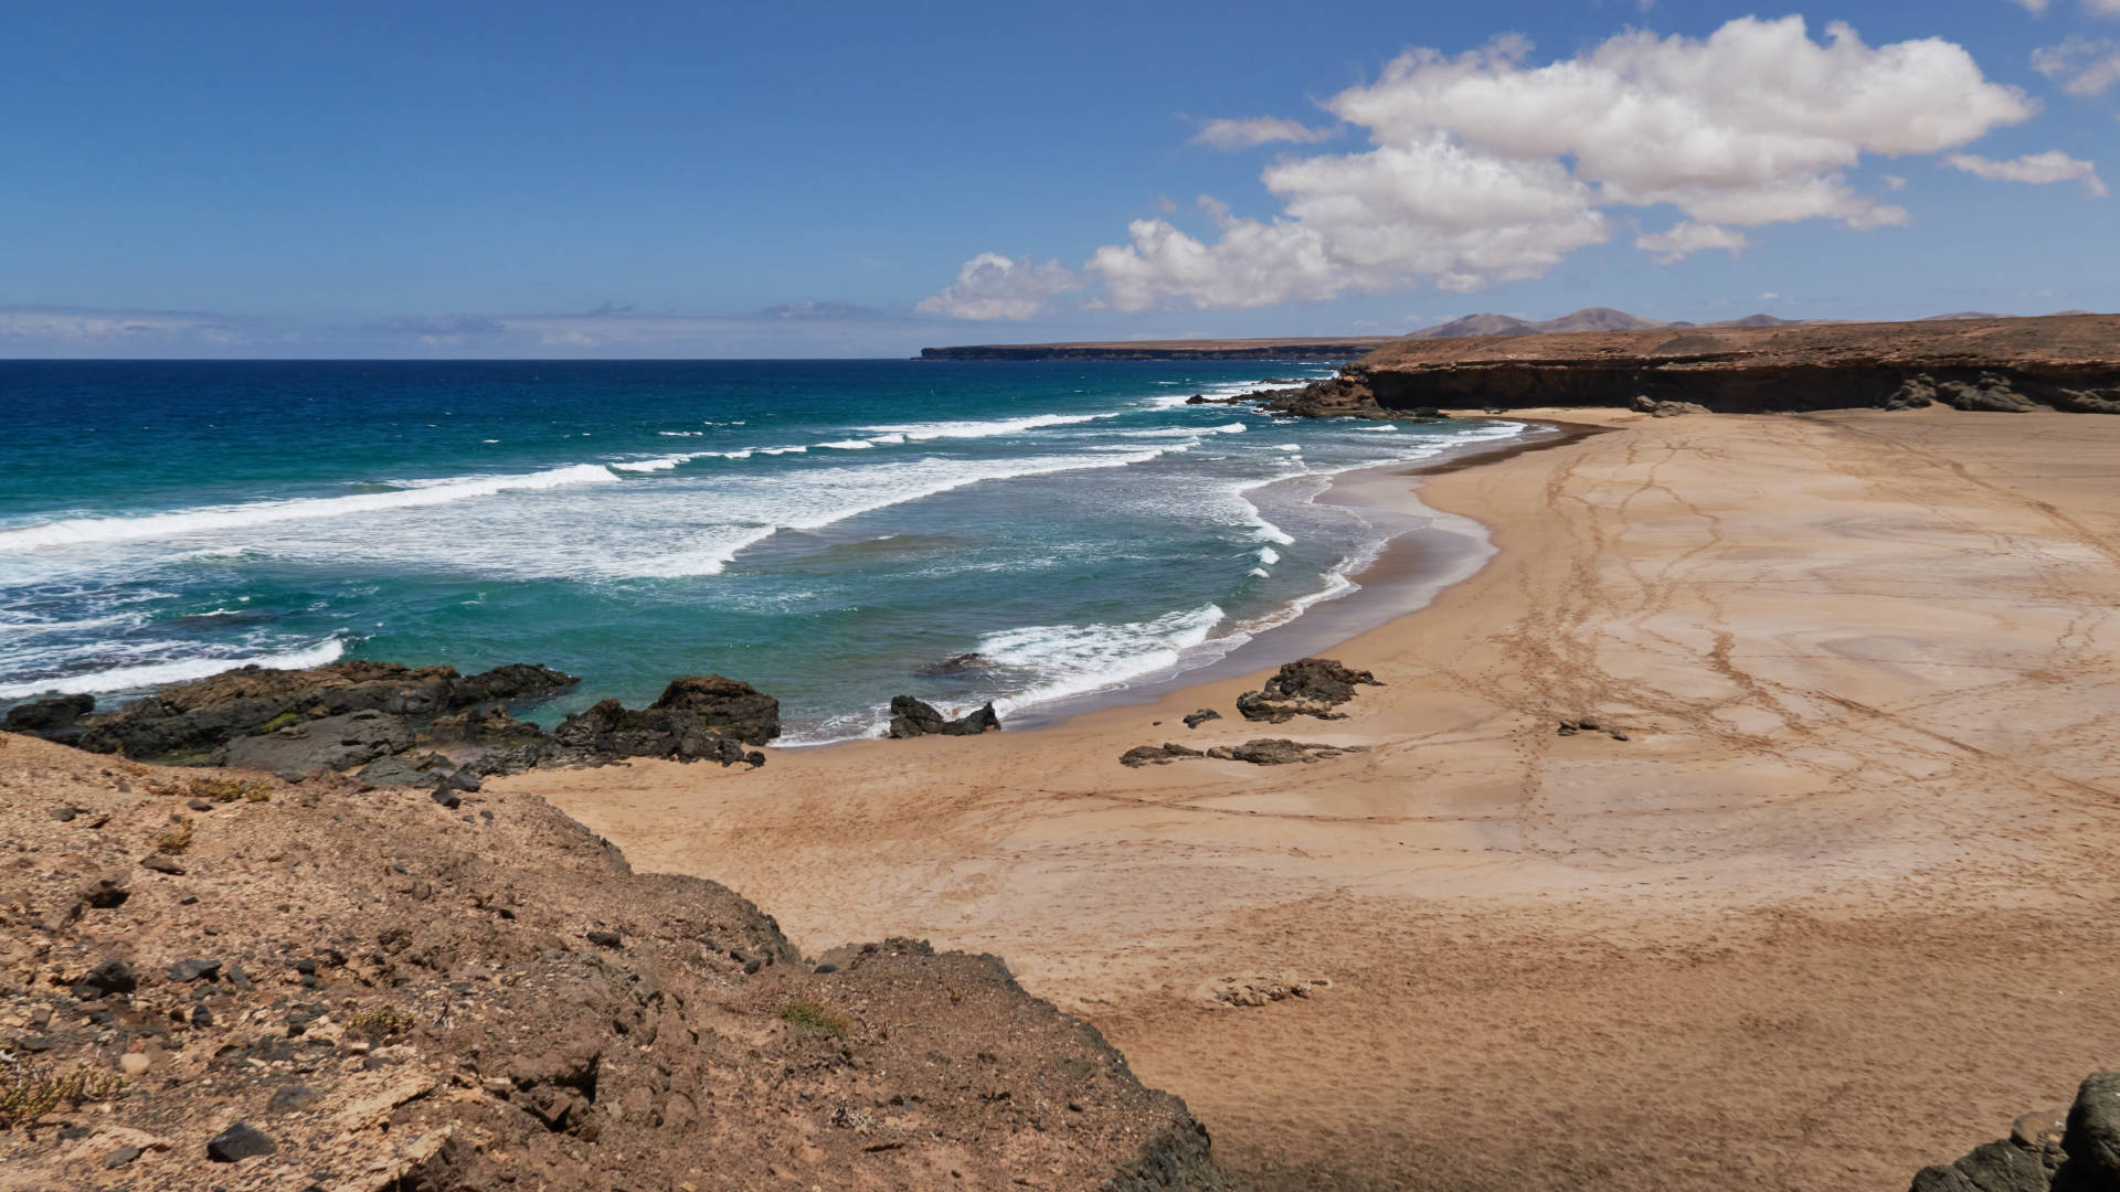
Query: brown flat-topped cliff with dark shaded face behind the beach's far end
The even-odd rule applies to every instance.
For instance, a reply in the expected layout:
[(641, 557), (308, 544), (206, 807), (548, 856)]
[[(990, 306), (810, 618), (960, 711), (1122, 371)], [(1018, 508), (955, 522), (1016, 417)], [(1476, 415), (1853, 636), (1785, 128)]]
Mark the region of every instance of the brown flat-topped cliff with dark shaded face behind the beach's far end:
[(1319, 382), (1321, 414), (1696, 403), (2120, 414), (2120, 316), (1719, 327), (1393, 341)]

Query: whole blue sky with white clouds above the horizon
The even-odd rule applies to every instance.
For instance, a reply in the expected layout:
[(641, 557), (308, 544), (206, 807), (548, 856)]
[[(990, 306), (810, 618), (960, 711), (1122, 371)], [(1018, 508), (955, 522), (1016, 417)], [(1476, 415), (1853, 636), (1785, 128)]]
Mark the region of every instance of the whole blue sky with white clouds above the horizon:
[(2120, 310), (2120, 0), (85, 0), (0, 40), (11, 356)]

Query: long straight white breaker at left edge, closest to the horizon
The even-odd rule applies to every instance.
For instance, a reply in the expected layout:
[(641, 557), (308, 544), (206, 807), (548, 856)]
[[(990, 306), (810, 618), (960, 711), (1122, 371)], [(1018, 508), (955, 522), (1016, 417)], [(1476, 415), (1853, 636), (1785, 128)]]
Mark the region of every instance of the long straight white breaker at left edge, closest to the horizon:
[(204, 509), (180, 509), (176, 513), (148, 513), (142, 518), (68, 518), (64, 522), (47, 522), (42, 526), (0, 530), (0, 551), (68, 547), (76, 543), (117, 543), (129, 539), (170, 539), (206, 530), (269, 526), (273, 522), (297, 522), (303, 518), (343, 518), (348, 513), (445, 505), (449, 501), (471, 501), (511, 490), (560, 488), (568, 484), (611, 484), (617, 479), (619, 477), (611, 475), (611, 469), (604, 464), (572, 464), (528, 475), (483, 475), (422, 481), (416, 488), (360, 492), (354, 496), (257, 501), (250, 505), (214, 505)]

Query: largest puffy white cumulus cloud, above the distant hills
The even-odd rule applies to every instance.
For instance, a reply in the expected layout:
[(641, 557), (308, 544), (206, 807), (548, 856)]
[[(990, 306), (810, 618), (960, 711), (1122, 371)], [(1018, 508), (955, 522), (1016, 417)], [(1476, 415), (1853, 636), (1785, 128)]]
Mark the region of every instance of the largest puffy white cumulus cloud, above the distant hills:
[(1370, 151), (1264, 172), (1278, 214), (1211, 208), (1213, 240), (1134, 221), (1088, 271), (1119, 310), (1251, 308), (1537, 278), (1609, 240), (1613, 206), (1679, 210), (1679, 227), (1637, 242), (1664, 259), (1736, 250), (1736, 227), (1897, 225), (1904, 208), (1847, 178), (1866, 153), (1942, 153), (2037, 112), (1959, 45), (1870, 47), (1844, 23), (1813, 40), (1802, 17), (1745, 17), (1704, 40), (1628, 32), (1569, 59), (1529, 57), (1518, 36), (1456, 57), (1410, 51), (1325, 104), (1370, 132)]

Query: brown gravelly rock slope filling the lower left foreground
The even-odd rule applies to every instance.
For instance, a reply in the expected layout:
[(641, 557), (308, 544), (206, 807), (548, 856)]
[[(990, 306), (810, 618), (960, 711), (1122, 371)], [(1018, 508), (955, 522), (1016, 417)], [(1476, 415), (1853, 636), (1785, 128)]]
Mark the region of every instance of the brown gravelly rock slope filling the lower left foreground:
[(528, 795), (0, 734), (0, 1184), (1219, 1190), (994, 957), (803, 959)]

